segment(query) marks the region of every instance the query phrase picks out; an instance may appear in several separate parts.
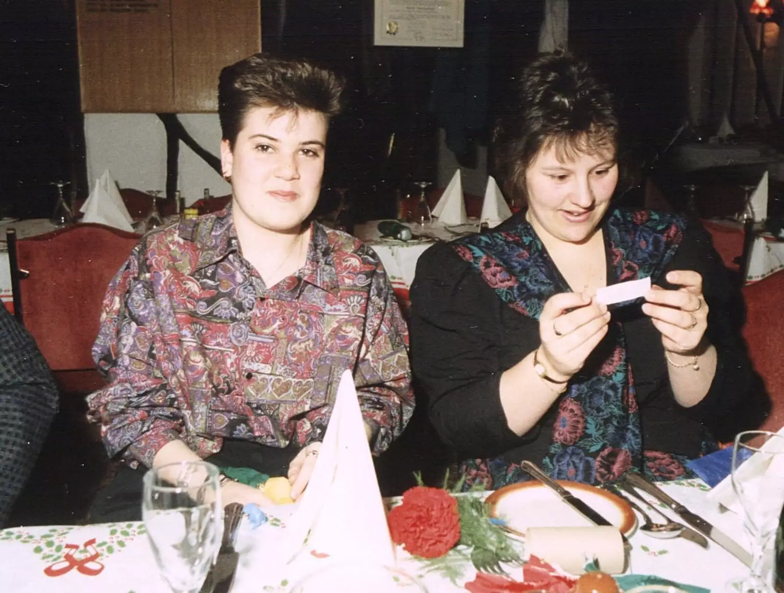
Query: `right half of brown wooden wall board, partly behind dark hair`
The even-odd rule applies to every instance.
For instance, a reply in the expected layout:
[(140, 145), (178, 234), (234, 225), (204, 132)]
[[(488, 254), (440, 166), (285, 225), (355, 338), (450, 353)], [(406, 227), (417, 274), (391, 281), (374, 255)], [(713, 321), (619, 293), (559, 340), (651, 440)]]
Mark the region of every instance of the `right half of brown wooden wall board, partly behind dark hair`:
[(174, 105), (218, 110), (221, 68), (261, 51), (260, 0), (171, 0)]

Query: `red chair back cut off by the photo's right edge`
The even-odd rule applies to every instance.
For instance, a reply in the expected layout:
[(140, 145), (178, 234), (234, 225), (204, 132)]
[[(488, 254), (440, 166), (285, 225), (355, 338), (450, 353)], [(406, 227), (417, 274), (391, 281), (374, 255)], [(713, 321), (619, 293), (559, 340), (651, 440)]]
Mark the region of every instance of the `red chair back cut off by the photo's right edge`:
[(778, 430), (784, 426), (784, 271), (744, 286), (742, 293), (746, 301), (743, 337), (771, 397), (771, 413), (762, 427)]

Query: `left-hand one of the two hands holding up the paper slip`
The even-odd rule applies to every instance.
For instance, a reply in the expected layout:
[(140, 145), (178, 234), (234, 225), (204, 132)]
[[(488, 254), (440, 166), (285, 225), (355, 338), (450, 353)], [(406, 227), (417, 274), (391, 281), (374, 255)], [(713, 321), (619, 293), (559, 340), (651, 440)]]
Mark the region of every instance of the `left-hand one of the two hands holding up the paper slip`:
[[(607, 306), (579, 293), (551, 296), (539, 315), (539, 362), (552, 379), (568, 381), (608, 330)], [(552, 375), (550, 375), (552, 372)]]

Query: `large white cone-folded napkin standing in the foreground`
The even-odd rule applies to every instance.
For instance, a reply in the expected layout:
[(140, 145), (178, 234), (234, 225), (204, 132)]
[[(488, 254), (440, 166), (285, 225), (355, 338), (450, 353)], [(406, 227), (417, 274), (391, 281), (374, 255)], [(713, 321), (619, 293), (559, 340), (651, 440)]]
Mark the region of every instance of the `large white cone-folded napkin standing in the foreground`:
[(328, 554), (330, 562), (394, 566), (387, 512), (350, 371), (340, 379), (318, 461), (279, 550), (283, 562), (315, 552)]

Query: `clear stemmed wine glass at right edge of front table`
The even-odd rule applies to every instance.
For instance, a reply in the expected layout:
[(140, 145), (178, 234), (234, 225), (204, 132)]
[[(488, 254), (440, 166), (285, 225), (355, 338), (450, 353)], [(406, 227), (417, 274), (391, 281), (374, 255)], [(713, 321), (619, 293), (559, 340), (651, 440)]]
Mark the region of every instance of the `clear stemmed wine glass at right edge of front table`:
[[(754, 455), (752, 461), (744, 463)], [(751, 541), (750, 574), (741, 581), (742, 593), (773, 593), (769, 544), (779, 528), (784, 505), (784, 436), (746, 430), (735, 437), (731, 481), (743, 510), (743, 527)], [(767, 557), (767, 558), (766, 558)]]

